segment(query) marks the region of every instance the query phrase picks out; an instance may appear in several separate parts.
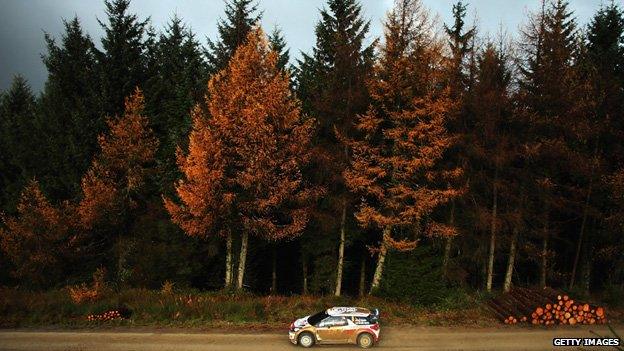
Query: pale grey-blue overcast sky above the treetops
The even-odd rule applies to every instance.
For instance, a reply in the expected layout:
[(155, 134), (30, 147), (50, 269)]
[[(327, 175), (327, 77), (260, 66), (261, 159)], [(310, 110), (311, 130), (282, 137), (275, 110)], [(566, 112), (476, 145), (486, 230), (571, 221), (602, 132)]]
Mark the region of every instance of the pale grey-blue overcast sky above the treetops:
[[(570, 0), (579, 22), (586, 24), (603, 0)], [(621, 1), (621, 0), (616, 0)], [(451, 21), (451, 7), (456, 0), (423, 0), (440, 19)], [(263, 27), (268, 31), (279, 26), (291, 49), (291, 56), (308, 51), (314, 45), (314, 25), (324, 0), (259, 0), (264, 11)], [(371, 20), (371, 35), (379, 37), (381, 21), (392, 0), (362, 0), (364, 15)], [(478, 19), (482, 33), (496, 34), (499, 28), (514, 35), (524, 23), (529, 11), (539, 7), (539, 0), (472, 0), (469, 15)], [(62, 19), (77, 15), (83, 28), (99, 46), (103, 30), (97, 18), (105, 19), (103, 0), (0, 0), (0, 89), (6, 89), (15, 74), (28, 79), (33, 90), (42, 88), (46, 70), (41, 62), (45, 51), (43, 32), (59, 37)], [(205, 44), (205, 38), (215, 38), (217, 20), (223, 16), (222, 0), (154, 1), (133, 0), (131, 10), (140, 18), (151, 17), (152, 24), (161, 29), (177, 14), (191, 26)]]

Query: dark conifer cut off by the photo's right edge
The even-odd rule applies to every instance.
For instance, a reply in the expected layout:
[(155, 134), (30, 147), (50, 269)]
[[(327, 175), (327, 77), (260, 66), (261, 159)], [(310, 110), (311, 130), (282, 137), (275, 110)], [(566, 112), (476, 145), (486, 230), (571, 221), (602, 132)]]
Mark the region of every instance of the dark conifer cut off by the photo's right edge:
[(587, 80), (586, 95), (592, 99), (588, 113), (591, 138), (589, 147), (581, 150), (591, 168), (569, 286), (574, 285), (576, 278), (582, 278), (579, 281), (583, 289), (589, 291), (591, 270), (599, 261), (611, 280), (624, 276), (621, 269), (618, 272), (615, 268), (618, 263), (621, 266), (621, 259), (618, 262), (611, 254), (595, 254), (623, 246), (616, 219), (621, 215), (616, 184), (621, 184), (617, 179), (622, 179), (624, 169), (624, 12), (620, 6), (614, 2), (601, 5), (587, 28), (584, 51), (578, 61)]

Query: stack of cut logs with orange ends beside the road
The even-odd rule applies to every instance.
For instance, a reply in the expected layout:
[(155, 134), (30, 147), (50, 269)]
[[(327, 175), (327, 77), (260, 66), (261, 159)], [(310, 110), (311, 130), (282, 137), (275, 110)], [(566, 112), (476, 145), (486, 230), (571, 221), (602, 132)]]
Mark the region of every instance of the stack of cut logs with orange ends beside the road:
[(514, 288), (487, 302), (492, 312), (505, 324), (532, 325), (604, 324), (605, 309), (572, 299), (553, 290)]

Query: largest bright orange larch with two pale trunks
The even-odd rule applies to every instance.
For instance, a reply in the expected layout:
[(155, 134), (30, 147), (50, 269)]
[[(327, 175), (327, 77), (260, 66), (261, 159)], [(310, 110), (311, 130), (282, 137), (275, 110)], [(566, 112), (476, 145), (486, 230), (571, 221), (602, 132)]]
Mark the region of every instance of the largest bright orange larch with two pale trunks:
[(301, 174), (313, 121), (301, 116), (277, 61), (256, 28), (210, 80), (210, 117), (199, 107), (194, 110), (189, 152), (178, 152), (184, 175), (176, 185), (181, 204), (164, 200), (187, 234), (227, 238), (226, 286), (233, 279), (232, 236), (240, 233), (238, 289), (249, 235), (267, 240), (299, 235), (308, 222), (309, 200), (317, 193)]

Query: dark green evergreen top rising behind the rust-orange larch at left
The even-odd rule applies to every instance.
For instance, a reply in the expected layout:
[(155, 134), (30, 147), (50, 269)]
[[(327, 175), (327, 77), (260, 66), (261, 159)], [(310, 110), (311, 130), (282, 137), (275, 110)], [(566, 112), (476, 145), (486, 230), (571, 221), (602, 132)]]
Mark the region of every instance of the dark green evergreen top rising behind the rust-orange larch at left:
[(130, 0), (106, 0), (106, 23), (98, 20), (104, 29), (103, 51), (98, 51), (101, 84), (102, 113), (120, 115), (124, 99), (146, 80), (146, 29), (149, 19), (140, 21), (130, 14)]

